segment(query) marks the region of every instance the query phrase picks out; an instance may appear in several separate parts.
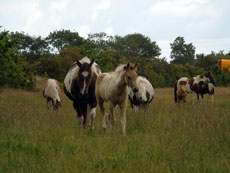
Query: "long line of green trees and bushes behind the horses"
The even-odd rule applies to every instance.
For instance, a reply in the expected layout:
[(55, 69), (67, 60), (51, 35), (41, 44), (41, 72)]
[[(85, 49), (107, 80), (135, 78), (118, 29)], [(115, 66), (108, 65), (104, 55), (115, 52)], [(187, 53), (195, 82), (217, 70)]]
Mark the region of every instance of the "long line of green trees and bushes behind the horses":
[[(0, 28), (1, 29), (1, 28)], [(0, 86), (34, 89), (35, 75), (63, 82), (69, 67), (84, 56), (93, 58), (103, 72), (114, 71), (127, 62), (138, 63), (138, 74), (156, 87), (172, 87), (182, 76), (193, 77), (210, 71), (218, 86), (229, 86), (230, 75), (220, 70), (219, 59), (230, 52), (195, 54), (195, 46), (177, 37), (170, 43), (170, 62), (160, 57), (155, 41), (140, 33), (109, 36), (104, 32), (81, 37), (78, 32), (56, 30), (42, 38), (24, 32), (0, 30)]]

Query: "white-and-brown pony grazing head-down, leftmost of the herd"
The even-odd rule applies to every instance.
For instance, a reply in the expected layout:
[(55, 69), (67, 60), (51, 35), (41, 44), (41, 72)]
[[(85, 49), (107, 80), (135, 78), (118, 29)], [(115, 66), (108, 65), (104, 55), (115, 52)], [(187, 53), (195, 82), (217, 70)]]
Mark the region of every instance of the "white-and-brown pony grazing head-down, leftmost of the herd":
[(43, 97), (46, 99), (47, 107), (52, 107), (53, 110), (59, 111), (61, 107), (61, 99), (59, 94), (61, 93), (61, 89), (58, 81), (55, 79), (48, 79), (45, 83), (43, 89)]

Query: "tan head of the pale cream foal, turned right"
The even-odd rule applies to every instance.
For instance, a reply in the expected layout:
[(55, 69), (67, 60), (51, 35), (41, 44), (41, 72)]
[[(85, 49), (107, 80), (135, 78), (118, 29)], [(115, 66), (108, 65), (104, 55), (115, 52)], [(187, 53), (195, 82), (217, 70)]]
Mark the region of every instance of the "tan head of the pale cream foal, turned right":
[(137, 63), (134, 65), (130, 65), (129, 63), (124, 67), (125, 70), (125, 82), (128, 86), (130, 86), (134, 93), (138, 92), (137, 86), (137, 77), (138, 74), (136, 73), (137, 70)]

